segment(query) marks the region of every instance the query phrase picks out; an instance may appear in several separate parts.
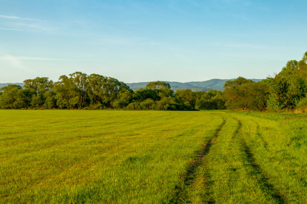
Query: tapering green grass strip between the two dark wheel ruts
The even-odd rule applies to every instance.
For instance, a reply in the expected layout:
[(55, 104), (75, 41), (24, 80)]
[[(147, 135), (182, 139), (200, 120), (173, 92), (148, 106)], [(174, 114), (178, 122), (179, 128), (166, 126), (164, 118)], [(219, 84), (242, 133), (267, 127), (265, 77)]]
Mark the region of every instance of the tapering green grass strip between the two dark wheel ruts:
[(238, 135), (241, 126), (237, 119), (227, 117), (199, 170), (196, 180), (203, 182), (196, 182), (189, 193), (193, 203), (274, 203), (262, 190), (265, 182)]

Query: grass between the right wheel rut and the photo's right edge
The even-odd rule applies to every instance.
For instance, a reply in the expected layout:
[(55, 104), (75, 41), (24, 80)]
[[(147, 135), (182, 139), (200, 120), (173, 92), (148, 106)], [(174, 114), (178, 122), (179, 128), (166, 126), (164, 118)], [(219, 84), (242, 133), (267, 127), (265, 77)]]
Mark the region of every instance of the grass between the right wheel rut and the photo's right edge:
[(307, 115), (241, 112), (239, 117), (241, 135), (268, 182), (285, 203), (307, 203)]

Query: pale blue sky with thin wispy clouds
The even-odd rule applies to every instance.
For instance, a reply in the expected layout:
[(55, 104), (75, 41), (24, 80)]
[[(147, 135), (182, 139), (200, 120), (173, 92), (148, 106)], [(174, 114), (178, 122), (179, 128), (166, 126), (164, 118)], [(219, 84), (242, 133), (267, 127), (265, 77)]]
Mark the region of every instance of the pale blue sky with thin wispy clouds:
[(0, 0), (0, 83), (266, 78), (307, 51), (306, 0)]

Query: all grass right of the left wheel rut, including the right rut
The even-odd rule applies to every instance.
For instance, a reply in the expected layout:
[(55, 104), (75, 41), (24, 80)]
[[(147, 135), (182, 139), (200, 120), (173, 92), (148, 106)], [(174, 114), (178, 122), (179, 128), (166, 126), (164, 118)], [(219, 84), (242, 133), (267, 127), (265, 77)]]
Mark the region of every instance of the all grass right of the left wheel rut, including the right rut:
[[(307, 115), (226, 112), (190, 203), (307, 203)], [(183, 202), (182, 202), (183, 203)]]

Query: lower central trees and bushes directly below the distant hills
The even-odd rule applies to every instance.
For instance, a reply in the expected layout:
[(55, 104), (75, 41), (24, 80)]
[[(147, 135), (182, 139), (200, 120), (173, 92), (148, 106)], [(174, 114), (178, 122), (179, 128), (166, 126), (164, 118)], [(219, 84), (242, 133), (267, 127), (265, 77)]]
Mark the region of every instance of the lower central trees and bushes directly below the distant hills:
[[(159, 83), (158, 86), (155, 85)], [(171, 89), (170, 84), (162, 81), (149, 82), (145, 88), (136, 90), (127, 109), (193, 110), (225, 109), (222, 91), (192, 91), (191, 89)]]

